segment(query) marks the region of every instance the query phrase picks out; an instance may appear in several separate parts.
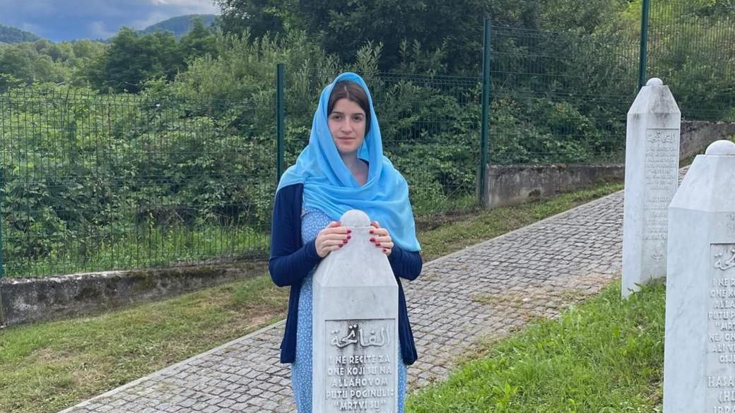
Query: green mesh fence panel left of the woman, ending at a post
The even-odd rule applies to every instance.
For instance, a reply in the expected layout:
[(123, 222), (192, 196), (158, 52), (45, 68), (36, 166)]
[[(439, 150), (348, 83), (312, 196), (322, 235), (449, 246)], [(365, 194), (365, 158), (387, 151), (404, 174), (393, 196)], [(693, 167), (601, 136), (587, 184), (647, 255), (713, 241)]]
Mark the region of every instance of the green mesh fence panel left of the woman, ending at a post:
[(273, 99), (0, 95), (6, 276), (265, 254)]

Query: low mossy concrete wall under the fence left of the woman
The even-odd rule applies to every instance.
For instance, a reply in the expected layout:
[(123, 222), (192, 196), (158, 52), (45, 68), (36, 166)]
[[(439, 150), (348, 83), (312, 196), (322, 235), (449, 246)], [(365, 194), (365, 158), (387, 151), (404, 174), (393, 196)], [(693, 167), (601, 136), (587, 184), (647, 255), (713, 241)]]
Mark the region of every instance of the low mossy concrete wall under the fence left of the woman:
[(265, 272), (265, 262), (0, 280), (0, 325), (85, 315)]

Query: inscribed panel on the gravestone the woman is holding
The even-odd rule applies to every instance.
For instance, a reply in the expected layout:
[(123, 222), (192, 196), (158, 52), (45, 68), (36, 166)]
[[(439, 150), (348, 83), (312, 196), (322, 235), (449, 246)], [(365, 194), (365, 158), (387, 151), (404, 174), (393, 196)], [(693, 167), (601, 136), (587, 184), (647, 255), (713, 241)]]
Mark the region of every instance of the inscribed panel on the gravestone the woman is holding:
[(395, 413), (395, 320), (326, 320), (326, 412)]

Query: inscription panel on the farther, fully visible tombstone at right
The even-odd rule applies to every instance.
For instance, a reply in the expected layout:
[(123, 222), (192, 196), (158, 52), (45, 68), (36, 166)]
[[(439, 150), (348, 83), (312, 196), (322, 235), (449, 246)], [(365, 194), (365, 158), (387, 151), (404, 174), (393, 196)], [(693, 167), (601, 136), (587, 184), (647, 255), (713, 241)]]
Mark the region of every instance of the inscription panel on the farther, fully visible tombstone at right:
[[(667, 207), (678, 184), (678, 129), (647, 129), (643, 240), (665, 241)], [(656, 254), (651, 251), (650, 255)]]

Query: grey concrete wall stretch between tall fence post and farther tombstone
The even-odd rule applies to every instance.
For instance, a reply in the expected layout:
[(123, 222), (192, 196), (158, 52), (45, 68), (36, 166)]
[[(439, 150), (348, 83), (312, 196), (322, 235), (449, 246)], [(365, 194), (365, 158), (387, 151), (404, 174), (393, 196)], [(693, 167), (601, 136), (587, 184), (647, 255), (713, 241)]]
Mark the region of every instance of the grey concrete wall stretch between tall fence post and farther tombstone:
[(625, 177), (623, 165), (487, 165), (485, 170), (486, 208), (523, 204)]

